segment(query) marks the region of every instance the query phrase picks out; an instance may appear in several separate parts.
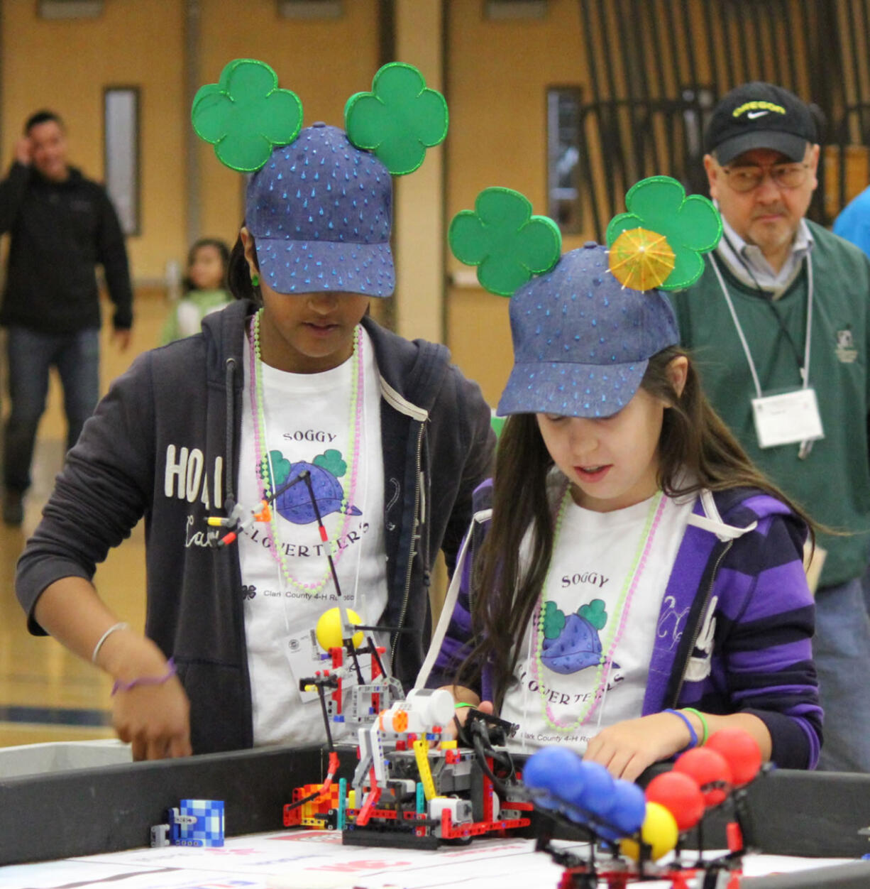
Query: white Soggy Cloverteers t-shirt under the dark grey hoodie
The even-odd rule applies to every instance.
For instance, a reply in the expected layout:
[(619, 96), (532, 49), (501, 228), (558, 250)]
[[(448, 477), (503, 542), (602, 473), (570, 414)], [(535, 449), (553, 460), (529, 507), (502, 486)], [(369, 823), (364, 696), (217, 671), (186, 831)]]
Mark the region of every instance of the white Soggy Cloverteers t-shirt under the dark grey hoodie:
[[(364, 330), (362, 352), (360, 410), (353, 417), (353, 357), (321, 373), (288, 373), (262, 365), (266, 428), (260, 428), (259, 434), (263, 451), (270, 455), (275, 489), (307, 469), (330, 544), (321, 540), (304, 482), (280, 494), (272, 504), (277, 540), (273, 524), (266, 522), (255, 522), (239, 536), (257, 745), (325, 741), (320, 702), (315, 695), (299, 692), (299, 679), (331, 666), (330, 661), (319, 660), (323, 652), (313, 640), (320, 616), (338, 605), (327, 546), (333, 551), (347, 608), (358, 613), (364, 624), (373, 625), (387, 605), (380, 383), (374, 349)], [(251, 350), (246, 343), (238, 484), (238, 501), (246, 508), (256, 507), (261, 498), (250, 378)], [(283, 554), (295, 582), (284, 576), (273, 556), (275, 548)], [(377, 634), (377, 641), (383, 644), (384, 638)], [(369, 662), (365, 656), (363, 663)], [(331, 725), (333, 735), (339, 734), (337, 728)]]

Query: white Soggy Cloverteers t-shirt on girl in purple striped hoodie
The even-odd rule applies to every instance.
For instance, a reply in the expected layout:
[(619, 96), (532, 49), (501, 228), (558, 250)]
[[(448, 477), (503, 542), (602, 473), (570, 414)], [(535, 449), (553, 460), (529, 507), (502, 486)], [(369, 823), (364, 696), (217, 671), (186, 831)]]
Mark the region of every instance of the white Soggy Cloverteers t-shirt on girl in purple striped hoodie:
[[(656, 494), (595, 512), (569, 499), (547, 576), (543, 645), (536, 611), (502, 704), (501, 716), (520, 725), (516, 749), (564, 743), (583, 752), (605, 726), (640, 717), (659, 609), (694, 502)], [(602, 656), (612, 662), (599, 669)]]

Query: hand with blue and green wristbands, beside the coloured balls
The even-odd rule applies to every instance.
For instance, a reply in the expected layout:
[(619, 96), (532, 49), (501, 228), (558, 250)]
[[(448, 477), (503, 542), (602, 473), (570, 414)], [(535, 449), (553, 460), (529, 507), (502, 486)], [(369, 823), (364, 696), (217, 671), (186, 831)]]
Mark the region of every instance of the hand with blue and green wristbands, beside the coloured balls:
[(645, 768), (673, 757), (690, 741), (680, 717), (653, 713), (603, 729), (589, 741), (583, 758), (606, 766), (614, 778), (635, 781)]

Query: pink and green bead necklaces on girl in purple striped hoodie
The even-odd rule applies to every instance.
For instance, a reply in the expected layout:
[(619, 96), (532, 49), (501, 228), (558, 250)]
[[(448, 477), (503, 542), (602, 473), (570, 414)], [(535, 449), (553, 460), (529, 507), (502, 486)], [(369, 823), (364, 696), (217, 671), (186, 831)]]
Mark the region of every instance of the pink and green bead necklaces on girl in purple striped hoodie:
[[(570, 498), (571, 488), (569, 487), (565, 489), (562, 502), (559, 505), (559, 512), (555, 520), (555, 530), (553, 534), (554, 555), (556, 546), (559, 542), (559, 535), (562, 531), (563, 517)], [(623, 631), (626, 629), (628, 612), (631, 609), (631, 602), (635, 596), (635, 589), (637, 589), (637, 586), (640, 583), (643, 569), (646, 567), (647, 558), (650, 556), (652, 542), (655, 539), (656, 531), (658, 531), (658, 525), (661, 522), (665, 504), (666, 498), (664, 494), (659, 491), (650, 504), (646, 520), (643, 523), (643, 532), (641, 533), (641, 539), (635, 552), (635, 557), (632, 560), (632, 565), (626, 574), (626, 580), (619, 593), (619, 599), (616, 603), (616, 615), (618, 615), (619, 620), (611, 621), (610, 633), (602, 645), (602, 657), (598, 662), (598, 667), (595, 669), (595, 694), (583, 706), (579, 717), (569, 724), (560, 722), (555, 717), (553, 710), (550, 707), (549, 695), (544, 690), (544, 684), (542, 682), (544, 664), (541, 660), (541, 653), (544, 650), (544, 613), (546, 611), (545, 605), (547, 604), (547, 588), (550, 581), (550, 571), (553, 568), (553, 558), (550, 558), (550, 565), (547, 568), (547, 578), (541, 588), (538, 610), (535, 614), (535, 620), (538, 622), (538, 633), (535, 637), (535, 650), (531, 658), (531, 673), (535, 681), (538, 683), (538, 692), (541, 699), (541, 709), (543, 710), (544, 720), (550, 728), (555, 729), (557, 732), (572, 732), (580, 725), (583, 725), (583, 723), (585, 723), (595, 712), (595, 708), (598, 706), (599, 701), (602, 700), (604, 688), (610, 677), (613, 654), (616, 652), (617, 647), (619, 646), (619, 640), (622, 638)]]

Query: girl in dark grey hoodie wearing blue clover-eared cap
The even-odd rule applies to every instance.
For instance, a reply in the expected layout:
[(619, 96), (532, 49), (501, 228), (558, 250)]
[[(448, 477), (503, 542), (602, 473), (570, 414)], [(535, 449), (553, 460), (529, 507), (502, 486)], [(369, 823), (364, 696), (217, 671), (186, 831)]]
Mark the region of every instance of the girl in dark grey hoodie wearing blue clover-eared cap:
[[(115, 679), (113, 723), (136, 759), (324, 741), (299, 680), (321, 668), (315, 626), (339, 584), (410, 686), (435, 558), (452, 570), (491, 473), (480, 388), (443, 346), (367, 315), (395, 288), (391, 174), (447, 128), (415, 68), (387, 65), (372, 86), (347, 102), (347, 132), (302, 129), (299, 99), (256, 60), (196, 93), (196, 132), (256, 171), (230, 261), (238, 299), (115, 381), (20, 558), (31, 631)], [(92, 585), (143, 516), (144, 637)]]

